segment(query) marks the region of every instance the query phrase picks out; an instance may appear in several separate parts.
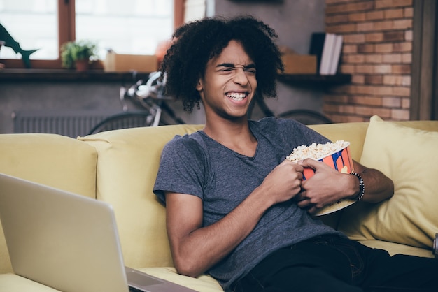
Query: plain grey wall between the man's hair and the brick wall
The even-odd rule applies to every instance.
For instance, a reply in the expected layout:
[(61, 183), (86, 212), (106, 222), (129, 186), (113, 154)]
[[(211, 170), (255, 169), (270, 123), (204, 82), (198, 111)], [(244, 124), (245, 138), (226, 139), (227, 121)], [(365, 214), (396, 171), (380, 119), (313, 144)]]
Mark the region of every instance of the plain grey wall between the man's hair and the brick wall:
[[(207, 3), (211, 5), (210, 2)], [(275, 29), (277, 45), (285, 45), (297, 54), (308, 54), (311, 33), (325, 29), (325, 0), (216, 0), (214, 14), (253, 15)], [(278, 82), (277, 93), (278, 99), (267, 100), (276, 113), (297, 108), (322, 111), (322, 89), (291, 87)]]

